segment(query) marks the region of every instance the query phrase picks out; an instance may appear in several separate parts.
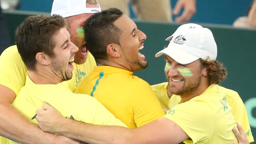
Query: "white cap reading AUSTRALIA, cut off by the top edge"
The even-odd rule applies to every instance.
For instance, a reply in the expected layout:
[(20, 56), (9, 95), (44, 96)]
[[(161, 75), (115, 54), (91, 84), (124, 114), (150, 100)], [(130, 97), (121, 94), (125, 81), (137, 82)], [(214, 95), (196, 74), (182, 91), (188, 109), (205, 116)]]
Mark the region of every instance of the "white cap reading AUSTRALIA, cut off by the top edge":
[(101, 12), (100, 4), (98, 6), (99, 8), (86, 7), (86, 0), (54, 0), (51, 15), (57, 14), (65, 18), (83, 13), (98, 13)]

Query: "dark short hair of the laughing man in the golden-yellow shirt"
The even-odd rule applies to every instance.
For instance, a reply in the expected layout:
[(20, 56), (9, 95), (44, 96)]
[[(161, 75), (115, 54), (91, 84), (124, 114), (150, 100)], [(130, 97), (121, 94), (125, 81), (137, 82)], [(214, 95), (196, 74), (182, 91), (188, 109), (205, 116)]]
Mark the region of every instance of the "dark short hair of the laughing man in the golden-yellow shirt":
[(108, 44), (119, 44), (122, 31), (115, 26), (114, 22), (122, 16), (122, 11), (110, 8), (91, 15), (83, 26), (85, 42), (88, 50), (99, 63), (100, 60), (108, 59), (106, 47)]

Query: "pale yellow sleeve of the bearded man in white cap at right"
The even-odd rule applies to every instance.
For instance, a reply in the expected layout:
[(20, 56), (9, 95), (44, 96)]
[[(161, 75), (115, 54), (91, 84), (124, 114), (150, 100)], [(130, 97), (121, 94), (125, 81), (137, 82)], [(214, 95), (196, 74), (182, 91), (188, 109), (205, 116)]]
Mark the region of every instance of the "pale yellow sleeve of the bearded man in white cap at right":
[(214, 131), (213, 110), (202, 102), (185, 102), (167, 111), (165, 118), (175, 122), (193, 140), (206, 142)]

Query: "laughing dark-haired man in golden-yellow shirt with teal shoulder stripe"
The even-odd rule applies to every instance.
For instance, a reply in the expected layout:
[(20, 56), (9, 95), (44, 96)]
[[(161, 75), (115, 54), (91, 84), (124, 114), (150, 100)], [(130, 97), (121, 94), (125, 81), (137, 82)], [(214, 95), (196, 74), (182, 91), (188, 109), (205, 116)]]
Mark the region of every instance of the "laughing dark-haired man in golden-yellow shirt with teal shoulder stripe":
[(146, 35), (119, 9), (95, 13), (84, 25), (87, 48), (99, 66), (78, 85), (128, 127), (143, 126), (164, 115), (153, 90), (133, 72), (147, 67), (143, 48)]

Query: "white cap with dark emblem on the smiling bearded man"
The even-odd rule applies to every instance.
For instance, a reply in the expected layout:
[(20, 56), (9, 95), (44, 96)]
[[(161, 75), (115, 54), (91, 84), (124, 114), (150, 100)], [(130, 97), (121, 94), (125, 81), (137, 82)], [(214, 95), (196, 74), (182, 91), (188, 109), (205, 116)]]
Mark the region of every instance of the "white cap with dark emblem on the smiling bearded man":
[(197, 59), (211, 60), (217, 57), (217, 44), (211, 31), (198, 24), (180, 26), (170, 37), (167, 48), (156, 53), (156, 57), (166, 54), (180, 64), (188, 64)]

